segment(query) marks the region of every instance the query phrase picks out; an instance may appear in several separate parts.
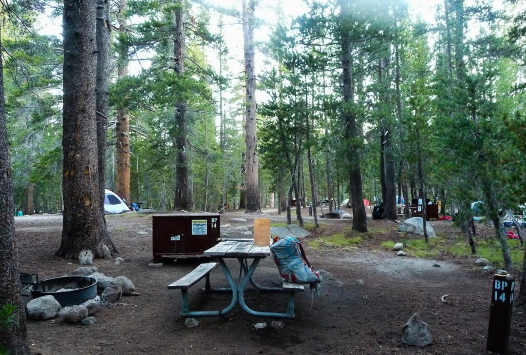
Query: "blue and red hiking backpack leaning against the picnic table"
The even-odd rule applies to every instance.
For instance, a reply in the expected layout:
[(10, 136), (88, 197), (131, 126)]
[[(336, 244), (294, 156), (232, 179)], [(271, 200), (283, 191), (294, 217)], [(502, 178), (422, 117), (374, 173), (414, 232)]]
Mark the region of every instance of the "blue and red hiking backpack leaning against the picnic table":
[(320, 273), (310, 266), (305, 251), (298, 239), (290, 236), (272, 239), (270, 251), (278, 266), (281, 277), (293, 284), (310, 284), (310, 288), (318, 288), (321, 282)]

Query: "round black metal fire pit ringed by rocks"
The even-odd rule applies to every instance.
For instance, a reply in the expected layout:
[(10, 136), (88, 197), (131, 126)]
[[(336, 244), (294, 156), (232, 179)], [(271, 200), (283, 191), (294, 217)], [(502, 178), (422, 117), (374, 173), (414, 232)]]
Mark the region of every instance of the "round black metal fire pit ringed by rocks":
[(33, 298), (51, 295), (60, 306), (66, 307), (79, 305), (95, 298), (97, 282), (98, 280), (93, 276), (62, 276), (39, 280), (29, 286), (29, 290)]

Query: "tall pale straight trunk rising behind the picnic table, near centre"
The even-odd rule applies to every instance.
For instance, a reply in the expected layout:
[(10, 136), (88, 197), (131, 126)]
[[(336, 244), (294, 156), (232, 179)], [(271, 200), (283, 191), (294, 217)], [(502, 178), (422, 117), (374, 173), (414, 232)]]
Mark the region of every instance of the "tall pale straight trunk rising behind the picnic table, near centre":
[[(261, 211), (256, 122), (256, 75), (254, 73), (254, 10), (255, 0), (241, 1), (243, 6), (243, 43), (245, 45), (245, 145), (247, 205), (245, 213)], [(299, 201), (298, 201), (299, 202)]]

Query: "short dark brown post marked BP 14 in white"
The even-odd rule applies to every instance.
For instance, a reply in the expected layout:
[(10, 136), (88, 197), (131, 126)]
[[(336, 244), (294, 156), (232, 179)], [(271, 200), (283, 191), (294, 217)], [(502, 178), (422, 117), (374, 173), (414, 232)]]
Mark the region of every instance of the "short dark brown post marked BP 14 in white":
[(512, 275), (495, 275), (491, 290), (490, 322), (486, 350), (503, 354), (510, 339), (511, 310), (515, 278)]

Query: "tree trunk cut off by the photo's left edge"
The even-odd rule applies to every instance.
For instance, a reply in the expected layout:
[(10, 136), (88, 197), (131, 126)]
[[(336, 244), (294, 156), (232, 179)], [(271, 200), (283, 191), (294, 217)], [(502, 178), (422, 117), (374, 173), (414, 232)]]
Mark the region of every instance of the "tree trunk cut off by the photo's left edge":
[[(0, 39), (0, 47), (1, 45)], [(3, 67), (2, 56), (0, 56), (0, 206), (2, 206), (0, 208), (0, 285), (2, 285), (0, 308), (8, 304), (15, 306), (14, 316), (17, 321), (11, 327), (0, 331), (0, 349), (5, 348), (13, 355), (25, 355), (31, 354), (31, 350), (27, 343), (26, 314), (21, 299), (18, 274), (13, 218), (13, 180), (6, 130)]]

